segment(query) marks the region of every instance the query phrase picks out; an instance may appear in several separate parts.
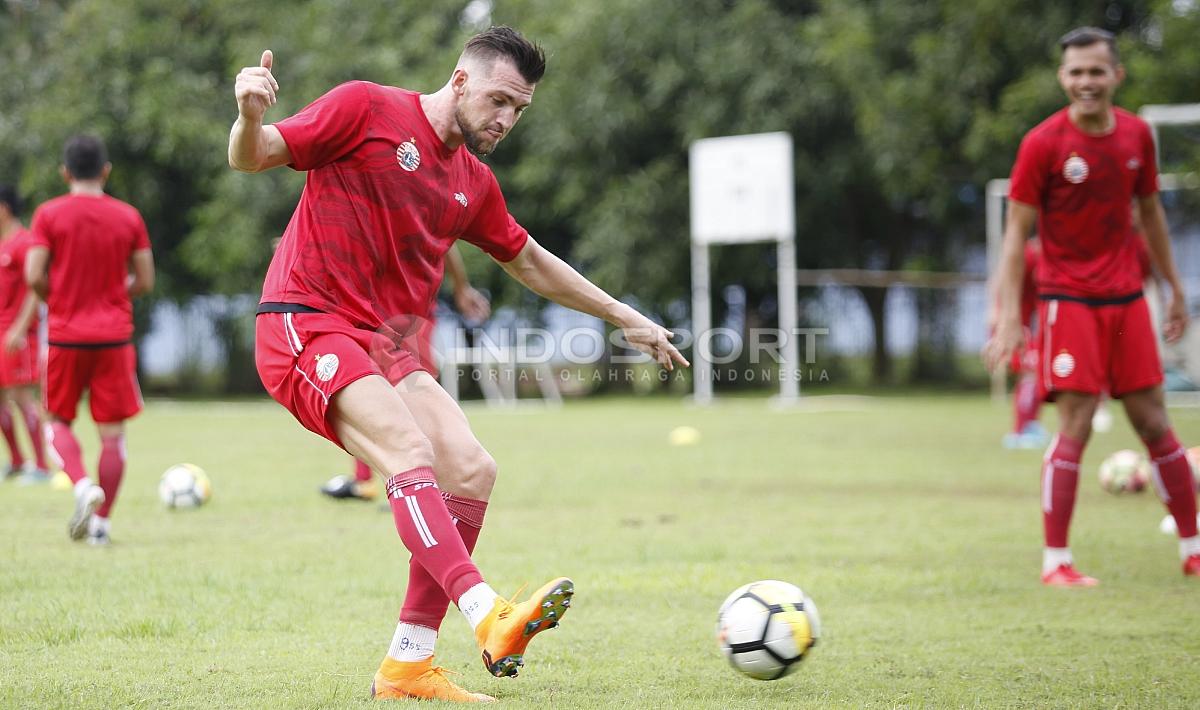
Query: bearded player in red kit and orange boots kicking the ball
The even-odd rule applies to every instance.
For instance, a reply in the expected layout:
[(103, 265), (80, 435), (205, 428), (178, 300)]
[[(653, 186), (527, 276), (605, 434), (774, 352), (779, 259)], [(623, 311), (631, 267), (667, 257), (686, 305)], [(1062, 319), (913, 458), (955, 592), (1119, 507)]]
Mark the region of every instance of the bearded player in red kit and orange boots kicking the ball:
[(545, 72), (539, 47), (492, 28), (467, 42), (433, 94), (350, 82), (264, 125), (278, 90), (271, 66), (268, 50), (238, 76), (229, 164), (308, 175), (263, 288), (259, 375), (305, 427), (386, 479), (396, 530), (413, 556), (372, 694), (492, 700), (432, 666), (448, 601), (474, 628), (487, 670), (516, 675), (530, 638), (566, 612), (574, 583), (552, 579), (515, 604), (470, 559), (496, 462), (403, 343), (430, 320), (446, 251), (466, 240), (533, 291), (623, 329), (662, 366), (686, 361), (667, 330), (539, 246), (476, 157), (492, 152), (529, 106)]

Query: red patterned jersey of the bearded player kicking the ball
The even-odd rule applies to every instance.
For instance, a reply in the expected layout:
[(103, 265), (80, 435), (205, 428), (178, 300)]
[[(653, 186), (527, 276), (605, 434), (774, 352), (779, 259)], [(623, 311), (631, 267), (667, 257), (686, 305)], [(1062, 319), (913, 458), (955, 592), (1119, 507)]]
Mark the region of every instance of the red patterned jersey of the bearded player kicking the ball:
[(308, 176), (263, 303), (307, 306), (372, 330), (428, 318), (456, 239), (500, 261), (526, 245), (492, 172), (442, 143), (414, 91), (350, 82), (275, 126), (290, 167)]

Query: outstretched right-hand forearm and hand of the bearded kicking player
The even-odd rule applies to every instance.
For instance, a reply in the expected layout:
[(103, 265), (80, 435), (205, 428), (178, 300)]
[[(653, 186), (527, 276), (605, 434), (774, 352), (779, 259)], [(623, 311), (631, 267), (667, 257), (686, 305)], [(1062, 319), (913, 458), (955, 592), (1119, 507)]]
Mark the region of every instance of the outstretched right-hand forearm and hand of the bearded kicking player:
[(650, 355), (662, 367), (674, 369), (676, 363), (684, 367), (689, 365), (671, 344), (674, 333), (606, 294), (532, 236), (515, 259), (499, 264), (535, 294), (568, 308), (602, 318), (622, 329), (630, 345)]

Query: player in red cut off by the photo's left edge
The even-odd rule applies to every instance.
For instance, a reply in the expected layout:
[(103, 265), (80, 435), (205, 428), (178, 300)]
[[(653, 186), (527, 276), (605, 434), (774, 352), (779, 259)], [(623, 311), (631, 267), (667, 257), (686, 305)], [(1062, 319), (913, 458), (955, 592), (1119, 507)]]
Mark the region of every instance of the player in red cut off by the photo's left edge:
[[(25, 284), (25, 252), (32, 235), (20, 223), (22, 200), (16, 188), (0, 185), (0, 432), (8, 445), (10, 463), (4, 477), (22, 470), (23, 482), (48, 481), (46, 445), (35, 387), (38, 377), (37, 295)], [(11, 403), (17, 405), (34, 447), (34, 467), (26, 465), (17, 443)]]

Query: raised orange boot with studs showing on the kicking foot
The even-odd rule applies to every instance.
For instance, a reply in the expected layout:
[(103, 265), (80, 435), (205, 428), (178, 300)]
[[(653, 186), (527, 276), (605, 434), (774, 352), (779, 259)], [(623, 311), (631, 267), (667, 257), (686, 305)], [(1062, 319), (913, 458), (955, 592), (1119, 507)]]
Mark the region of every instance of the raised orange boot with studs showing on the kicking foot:
[(524, 649), (529, 640), (558, 626), (574, 595), (575, 583), (559, 577), (520, 604), (497, 597), (487, 618), (475, 627), (475, 642), (487, 672), (497, 678), (516, 675), (524, 666)]

